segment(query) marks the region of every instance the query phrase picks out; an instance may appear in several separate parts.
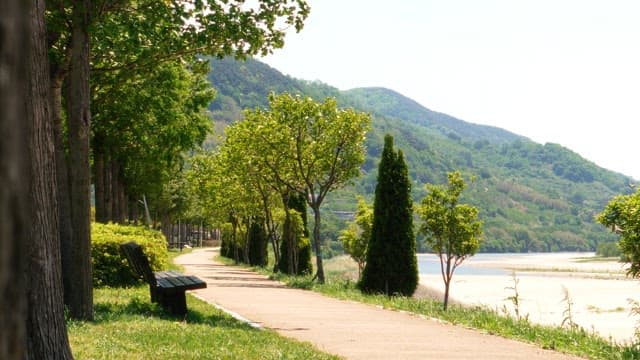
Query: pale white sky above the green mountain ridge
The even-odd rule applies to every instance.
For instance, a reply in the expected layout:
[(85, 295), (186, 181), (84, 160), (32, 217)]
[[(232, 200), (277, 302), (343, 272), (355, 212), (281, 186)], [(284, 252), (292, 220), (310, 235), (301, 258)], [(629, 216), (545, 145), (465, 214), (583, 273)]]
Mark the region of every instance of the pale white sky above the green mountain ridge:
[(310, 0), (264, 59), (554, 142), (640, 180), (640, 0)]

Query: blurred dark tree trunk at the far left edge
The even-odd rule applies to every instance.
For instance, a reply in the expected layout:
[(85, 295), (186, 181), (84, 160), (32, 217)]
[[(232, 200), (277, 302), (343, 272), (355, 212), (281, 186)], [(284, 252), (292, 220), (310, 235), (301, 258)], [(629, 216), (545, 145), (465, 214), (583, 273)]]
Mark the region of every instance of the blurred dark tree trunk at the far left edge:
[(23, 359), (26, 351), (26, 282), (22, 276), (27, 237), (29, 179), (24, 121), (29, 2), (0, 2), (0, 359)]

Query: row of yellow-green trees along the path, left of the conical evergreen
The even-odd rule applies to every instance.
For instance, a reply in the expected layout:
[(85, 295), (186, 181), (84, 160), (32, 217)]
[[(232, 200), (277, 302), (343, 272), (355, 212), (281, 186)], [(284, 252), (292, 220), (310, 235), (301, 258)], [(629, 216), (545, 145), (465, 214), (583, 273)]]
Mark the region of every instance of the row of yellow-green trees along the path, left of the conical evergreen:
[(306, 271), (300, 258), (308, 256), (300, 251), (305, 248), (303, 219), (309, 206), (314, 214), (316, 276), (324, 282), (320, 206), (330, 191), (359, 174), (370, 118), (338, 109), (333, 99), (318, 103), (287, 93), (271, 94), (269, 105), (267, 110), (246, 111), (244, 120), (227, 128), (215, 152), (194, 159), (194, 191), (211, 218), (231, 224), (231, 234), (247, 234), (248, 227), (236, 230), (258, 219), (276, 266), (293, 274)]

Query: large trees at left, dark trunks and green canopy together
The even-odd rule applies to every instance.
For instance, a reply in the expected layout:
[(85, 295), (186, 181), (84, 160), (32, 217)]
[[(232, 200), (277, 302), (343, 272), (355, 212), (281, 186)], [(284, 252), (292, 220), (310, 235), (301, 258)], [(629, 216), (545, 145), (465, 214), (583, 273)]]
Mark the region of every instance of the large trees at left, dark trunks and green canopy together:
[(98, 213), (121, 219), (131, 197), (152, 193), (141, 186), (160, 188), (170, 177), (156, 176), (172, 170), (148, 160), (179, 168), (177, 154), (206, 131), (200, 108), (211, 91), (195, 56), (266, 54), (283, 45), (287, 26), (301, 29), (309, 7), (304, 0), (1, 6), (0, 357), (71, 358), (63, 299), (71, 317), (93, 317), (91, 154), (96, 195), (110, 199), (99, 201)]

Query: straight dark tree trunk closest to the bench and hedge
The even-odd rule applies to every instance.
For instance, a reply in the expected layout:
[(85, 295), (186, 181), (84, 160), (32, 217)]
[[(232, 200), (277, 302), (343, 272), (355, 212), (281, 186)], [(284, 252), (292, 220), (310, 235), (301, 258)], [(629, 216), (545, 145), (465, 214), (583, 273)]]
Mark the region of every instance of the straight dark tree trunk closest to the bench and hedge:
[(71, 66), (68, 76), (67, 115), (69, 131), (73, 276), (69, 314), (81, 320), (93, 319), (91, 277), (91, 168), (89, 137), (91, 126), (89, 94), (89, 8), (90, 1), (76, 0), (72, 9)]

